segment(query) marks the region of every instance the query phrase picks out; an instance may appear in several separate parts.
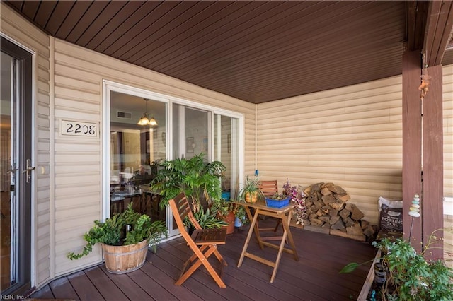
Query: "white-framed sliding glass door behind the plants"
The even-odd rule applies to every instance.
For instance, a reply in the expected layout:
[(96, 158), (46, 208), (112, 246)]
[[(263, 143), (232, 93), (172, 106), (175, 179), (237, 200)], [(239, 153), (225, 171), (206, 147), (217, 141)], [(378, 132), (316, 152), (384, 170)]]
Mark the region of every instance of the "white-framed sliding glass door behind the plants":
[(243, 164), (241, 117), (116, 83), (106, 84), (105, 93), (105, 216), (132, 203), (135, 211), (164, 220), (170, 237), (177, 235), (170, 209), (159, 207), (159, 191), (149, 191), (149, 184), (162, 161), (200, 153), (206, 162), (224, 163), (222, 189), (237, 196)]

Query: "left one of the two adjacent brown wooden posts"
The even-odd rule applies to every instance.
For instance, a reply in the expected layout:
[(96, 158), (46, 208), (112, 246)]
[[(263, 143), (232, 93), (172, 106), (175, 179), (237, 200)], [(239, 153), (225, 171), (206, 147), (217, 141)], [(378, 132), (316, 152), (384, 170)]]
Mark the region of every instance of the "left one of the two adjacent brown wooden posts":
[(415, 194), (420, 195), (420, 199), (422, 196), (420, 73), (421, 50), (403, 54), (403, 231), (404, 238), (410, 239), (418, 252), (422, 250), (421, 218), (412, 220), (409, 208)]

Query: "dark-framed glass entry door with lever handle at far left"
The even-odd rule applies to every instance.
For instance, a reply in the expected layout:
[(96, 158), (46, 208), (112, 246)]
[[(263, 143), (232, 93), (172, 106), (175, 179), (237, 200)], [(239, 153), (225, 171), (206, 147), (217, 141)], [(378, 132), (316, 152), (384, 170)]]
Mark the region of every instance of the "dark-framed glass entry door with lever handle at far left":
[(0, 82), (0, 286), (19, 296), (30, 289), (31, 54), (4, 37)]

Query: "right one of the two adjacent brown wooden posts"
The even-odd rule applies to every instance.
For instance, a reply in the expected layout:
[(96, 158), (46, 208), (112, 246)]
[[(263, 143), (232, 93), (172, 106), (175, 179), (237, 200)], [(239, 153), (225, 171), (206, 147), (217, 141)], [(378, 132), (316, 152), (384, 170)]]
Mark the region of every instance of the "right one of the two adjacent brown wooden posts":
[[(444, 160), (442, 129), (442, 66), (428, 67), (430, 90), (423, 98), (423, 245), (432, 232), (443, 237)], [(425, 252), (427, 259), (443, 256), (442, 244)]]

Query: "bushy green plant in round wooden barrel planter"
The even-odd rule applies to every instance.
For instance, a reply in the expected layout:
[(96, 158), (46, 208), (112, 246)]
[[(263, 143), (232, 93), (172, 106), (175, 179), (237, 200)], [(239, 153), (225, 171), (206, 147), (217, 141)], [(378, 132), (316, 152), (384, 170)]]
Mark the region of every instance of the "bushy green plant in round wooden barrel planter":
[(156, 252), (157, 244), (164, 235), (168, 235), (164, 221), (151, 222), (146, 214), (135, 212), (130, 203), (127, 210), (107, 218), (105, 222), (95, 220), (93, 228), (84, 234), (86, 246), (82, 252), (69, 252), (67, 257), (80, 259), (89, 254), (96, 243), (100, 243), (107, 271), (127, 273), (144, 264), (148, 247)]

